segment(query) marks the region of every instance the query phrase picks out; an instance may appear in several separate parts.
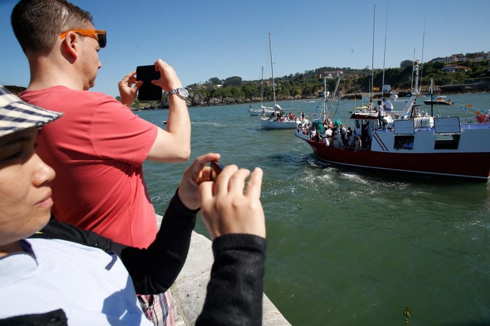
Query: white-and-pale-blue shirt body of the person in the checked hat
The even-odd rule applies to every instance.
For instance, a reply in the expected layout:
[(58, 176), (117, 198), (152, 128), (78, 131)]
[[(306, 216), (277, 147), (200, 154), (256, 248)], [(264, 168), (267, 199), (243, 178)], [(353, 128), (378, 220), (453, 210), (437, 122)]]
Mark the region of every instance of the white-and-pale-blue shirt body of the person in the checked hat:
[(133, 282), (116, 254), (50, 239), (0, 259), (0, 318), (62, 308), (69, 325), (148, 325)]

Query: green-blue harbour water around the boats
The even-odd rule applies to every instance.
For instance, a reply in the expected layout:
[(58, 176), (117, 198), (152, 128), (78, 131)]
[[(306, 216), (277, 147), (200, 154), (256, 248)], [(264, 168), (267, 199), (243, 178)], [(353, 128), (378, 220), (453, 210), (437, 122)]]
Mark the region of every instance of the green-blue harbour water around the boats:
[[(490, 109), (489, 93), (451, 98)], [(307, 114), (321, 105), (280, 104)], [(356, 104), (339, 104), (346, 126)], [(144, 165), (157, 213), (198, 155), (219, 152), (225, 165), (264, 170), (265, 292), (291, 324), (405, 325), (407, 305), (414, 326), (490, 324), (490, 184), (328, 165), (294, 130), (263, 130), (247, 109), (189, 109), (191, 160)], [(474, 117), (457, 107), (434, 113)], [(138, 115), (161, 126), (168, 110)], [(196, 231), (207, 235), (200, 220)]]

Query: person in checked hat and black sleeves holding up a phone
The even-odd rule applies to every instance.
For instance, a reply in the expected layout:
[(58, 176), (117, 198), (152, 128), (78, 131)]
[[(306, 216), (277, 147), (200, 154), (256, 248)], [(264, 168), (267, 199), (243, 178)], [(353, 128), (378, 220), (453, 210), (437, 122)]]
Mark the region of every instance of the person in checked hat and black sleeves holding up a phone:
[(196, 325), (260, 325), (267, 246), (262, 171), (250, 175), (244, 194), (247, 170), (227, 166), (211, 182), (205, 165), (219, 154), (198, 157), (153, 243), (124, 246), (49, 221), (55, 174), (35, 153), (35, 138), (60, 115), (0, 87), (0, 325), (152, 325), (136, 293), (172, 285), (199, 208), (215, 262)]

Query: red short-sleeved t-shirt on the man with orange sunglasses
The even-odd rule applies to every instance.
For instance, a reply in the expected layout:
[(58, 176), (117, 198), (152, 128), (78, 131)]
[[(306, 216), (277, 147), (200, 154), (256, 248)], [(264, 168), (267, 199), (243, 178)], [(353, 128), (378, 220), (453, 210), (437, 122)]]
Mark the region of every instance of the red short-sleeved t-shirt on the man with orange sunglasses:
[(45, 126), (37, 153), (56, 172), (52, 213), (63, 222), (146, 248), (157, 233), (142, 164), (157, 127), (114, 98), (55, 86), (21, 98), (65, 112)]

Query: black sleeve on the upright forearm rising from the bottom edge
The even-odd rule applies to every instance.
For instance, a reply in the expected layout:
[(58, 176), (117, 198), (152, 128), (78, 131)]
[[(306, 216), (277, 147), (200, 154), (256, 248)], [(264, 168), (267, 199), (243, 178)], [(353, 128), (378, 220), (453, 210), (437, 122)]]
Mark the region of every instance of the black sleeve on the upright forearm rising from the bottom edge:
[(215, 262), (196, 325), (262, 325), (267, 241), (230, 234), (213, 241)]

